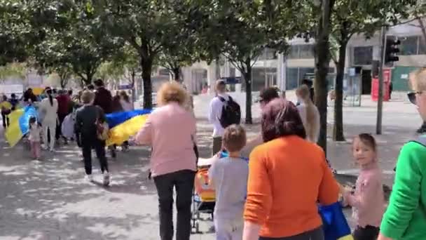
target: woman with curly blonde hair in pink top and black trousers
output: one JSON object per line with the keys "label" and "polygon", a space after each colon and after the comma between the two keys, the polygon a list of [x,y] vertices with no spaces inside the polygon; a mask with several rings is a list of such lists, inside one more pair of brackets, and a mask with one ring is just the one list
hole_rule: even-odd
{"label": "woman with curly blonde hair in pink top and black trousers", "polygon": [[173,239],[173,189],[176,188],[177,236],[189,240],[196,170],[195,118],[185,109],[188,93],[167,82],[157,93],[159,107],[149,115],[135,142],[152,146],[151,175],[158,192],[160,239]]}

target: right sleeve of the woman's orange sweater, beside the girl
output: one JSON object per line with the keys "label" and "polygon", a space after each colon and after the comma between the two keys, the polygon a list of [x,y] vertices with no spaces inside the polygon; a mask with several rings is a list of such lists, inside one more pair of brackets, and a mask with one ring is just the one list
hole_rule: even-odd
{"label": "right sleeve of the woman's orange sweater, beside the girl", "polygon": [[324,151],[321,150],[321,152],[323,175],[318,191],[318,201],[320,201],[321,204],[330,205],[338,201],[340,189],[336,179],[334,179],[333,173],[331,173],[331,169],[326,164]]}

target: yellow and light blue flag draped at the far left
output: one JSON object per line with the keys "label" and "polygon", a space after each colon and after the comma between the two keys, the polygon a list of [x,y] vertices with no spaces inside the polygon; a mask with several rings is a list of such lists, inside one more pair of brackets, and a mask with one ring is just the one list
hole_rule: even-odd
{"label": "yellow and light blue flag draped at the far left", "polygon": [[28,122],[32,116],[38,117],[37,110],[32,105],[17,109],[9,114],[11,125],[6,128],[4,136],[11,147],[14,147],[22,136],[28,133]]}

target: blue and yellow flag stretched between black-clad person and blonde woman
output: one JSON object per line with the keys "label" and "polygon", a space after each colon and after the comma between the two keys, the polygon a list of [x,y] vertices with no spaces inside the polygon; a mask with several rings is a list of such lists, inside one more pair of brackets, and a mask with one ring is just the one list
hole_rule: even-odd
{"label": "blue and yellow flag stretched between black-clad person and blonde woman", "polygon": [[129,140],[130,136],[136,135],[142,126],[144,126],[151,112],[151,109],[140,109],[130,112],[107,114],[107,123],[109,126],[107,146],[114,144],[122,145],[123,142]]}

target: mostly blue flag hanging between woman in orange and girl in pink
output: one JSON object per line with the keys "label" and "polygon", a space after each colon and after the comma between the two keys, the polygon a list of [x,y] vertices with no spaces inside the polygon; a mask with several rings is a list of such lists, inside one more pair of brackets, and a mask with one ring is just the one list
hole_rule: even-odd
{"label": "mostly blue flag hanging between woman in orange and girl in pink", "polygon": [[353,240],[340,202],[319,206],[325,240]]}

